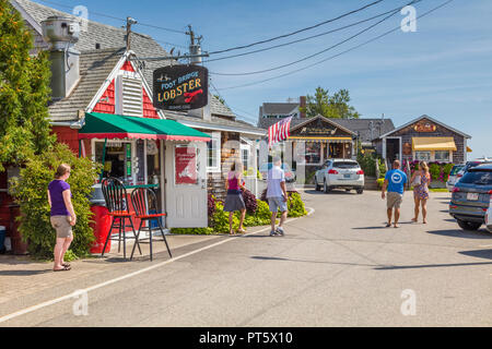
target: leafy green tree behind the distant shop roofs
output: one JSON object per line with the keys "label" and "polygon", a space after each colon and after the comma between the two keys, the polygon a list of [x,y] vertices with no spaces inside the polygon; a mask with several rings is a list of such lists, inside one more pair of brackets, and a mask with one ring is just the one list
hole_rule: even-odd
{"label": "leafy green tree behind the distant shop roofs", "polygon": [[320,115],[325,118],[359,119],[360,113],[349,105],[350,100],[348,89],[340,89],[330,96],[328,89],[319,86],[314,96],[306,96],[306,107],[301,108],[301,112],[305,112],[308,118]]}

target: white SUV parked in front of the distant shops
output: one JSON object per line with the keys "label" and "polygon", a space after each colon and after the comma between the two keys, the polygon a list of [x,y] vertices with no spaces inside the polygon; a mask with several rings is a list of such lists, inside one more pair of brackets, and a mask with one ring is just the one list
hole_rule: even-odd
{"label": "white SUV parked in front of the distant shops", "polygon": [[325,193],[332,189],[342,188],[347,191],[356,190],[358,194],[364,192],[364,171],[355,160],[331,159],[326,161],[321,169],[315,173],[316,190]]}

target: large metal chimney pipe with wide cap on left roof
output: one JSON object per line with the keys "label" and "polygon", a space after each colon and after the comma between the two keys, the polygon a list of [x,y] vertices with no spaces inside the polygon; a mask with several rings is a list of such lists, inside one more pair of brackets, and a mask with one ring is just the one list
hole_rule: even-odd
{"label": "large metal chimney pipe with wide cap on left roof", "polygon": [[80,24],[67,16],[50,16],[42,22],[43,37],[51,44],[51,97],[62,99],[70,95],[80,80],[80,52],[73,48],[79,41]]}

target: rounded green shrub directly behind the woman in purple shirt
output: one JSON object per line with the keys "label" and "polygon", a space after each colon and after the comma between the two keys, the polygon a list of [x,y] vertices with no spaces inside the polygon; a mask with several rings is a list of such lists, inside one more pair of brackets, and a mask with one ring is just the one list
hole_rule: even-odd
{"label": "rounded green shrub directly behind the woman in purple shirt", "polygon": [[98,166],[87,158],[78,158],[67,145],[56,144],[52,151],[31,157],[21,169],[20,178],[13,179],[12,193],[21,206],[20,231],[33,256],[51,258],[56,244],[56,232],[49,221],[48,184],[60,164],[71,166],[68,179],[72,192],[72,204],[77,215],[73,227],[73,242],[70,246],[75,256],[90,255],[91,242],[94,240],[89,226],[92,212],[89,196],[97,178]]}

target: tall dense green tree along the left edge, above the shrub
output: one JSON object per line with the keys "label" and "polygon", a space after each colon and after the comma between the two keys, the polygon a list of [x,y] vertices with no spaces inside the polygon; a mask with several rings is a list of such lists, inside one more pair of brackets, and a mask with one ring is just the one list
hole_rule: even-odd
{"label": "tall dense green tree along the left edge, above the shrub", "polygon": [[0,0],[0,171],[50,148],[47,53],[32,57],[33,36],[8,0]]}

